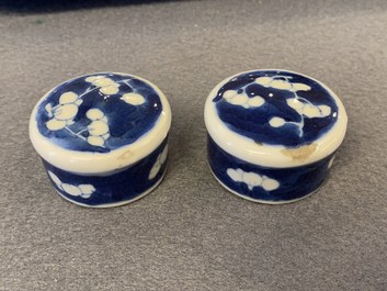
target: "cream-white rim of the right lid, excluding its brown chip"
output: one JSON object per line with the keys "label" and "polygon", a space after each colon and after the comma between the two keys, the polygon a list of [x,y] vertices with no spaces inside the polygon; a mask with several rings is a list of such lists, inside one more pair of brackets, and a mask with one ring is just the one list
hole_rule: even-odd
{"label": "cream-white rim of the right lid, excluding its brown chip", "polygon": [[[309,78],[322,86],[334,99],[338,105],[338,119],[334,125],[322,137],[316,139],[314,144],[317,145],[316,150],[311,153],[307,159],[293,159],[291,156],[286,156],[282,153],[286,149],[285,146],[281,145],[258,145],[253,139],[240,135],[236,132],[229,130],[226,124],[220,120],[217,114],[216,103],[213,99],[216,97],[218,90],[232,78],[248,72],[253,71],[284,71],[291,74],[297,74],[303,77]],[[330,154],[332,154],[341,145],[345,136],[348,116],[343,103],[337,97],[337,94],[329,89],[322,82],[299,72],[283,70],[283,69],[259,69],[259,70],[248,70],[243,72],[238,72],[231,77],[219,82],[209,93],[205,108],[204,108],[204,121],[209,136],[215,141],[215,143],[226,150],[228,154],[246,160],[251,164],[272,167],[272,168],[289,168],[308,165],[318,161]]]}

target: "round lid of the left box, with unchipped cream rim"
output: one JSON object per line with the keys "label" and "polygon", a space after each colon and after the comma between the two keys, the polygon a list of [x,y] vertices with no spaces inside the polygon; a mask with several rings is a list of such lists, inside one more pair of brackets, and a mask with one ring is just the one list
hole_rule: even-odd
{"label": "round lid of the left box, with unchipped cream rim", "polygon": [[132,75],[98,72],[47,92],[32,112],[30,138],[54,166],[98,174],[146,157],[170,125],[168,100],[155,85]]}

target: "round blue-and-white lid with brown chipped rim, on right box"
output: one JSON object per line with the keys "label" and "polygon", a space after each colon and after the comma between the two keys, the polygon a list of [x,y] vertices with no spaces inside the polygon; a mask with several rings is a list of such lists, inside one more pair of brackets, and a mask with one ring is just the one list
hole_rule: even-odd
{"label": "round blue-and-white lid with brown chipped rim, on right box", "polygon": [[287,70],[235,75],[209,93],[205,124],[227,153],[274,167],[307,165],[342,143],[346,113],[323,83]]}

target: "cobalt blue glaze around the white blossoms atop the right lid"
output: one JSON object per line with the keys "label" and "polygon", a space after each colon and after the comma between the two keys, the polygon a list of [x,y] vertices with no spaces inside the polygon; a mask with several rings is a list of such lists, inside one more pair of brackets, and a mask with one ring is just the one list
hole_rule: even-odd
{"label": "cobalt blue glaze around the white blossoms atop the right lid", "polygon": [[[260,77],[273,77],[275,80],[309,86],[309,90],[284,90],[255,82]],[[283,77],[281,77],[283,76]],[[244,92],[249,99],[259,96],[264,103],[260,107],[236,107],[225,101],[224,93],[235,90]],[[297,98],[303,103],[328,105],[331,111],[327,116],[304,119],[303,114],[291,108],[286,100]],[[335,123],[338,107],[331,93],[320,83],[305,76],[281,70],[258,70],[241,74],[226,82],[213,100],[216,102],[220,120],[232,132],[247,136],[254,142],[268,145],[299,147],[308,145],[327,133]],[[270,120],[281,116],[285,124],[280,127],[270,125]],[[301,128],[299,124],[303,124]]]}

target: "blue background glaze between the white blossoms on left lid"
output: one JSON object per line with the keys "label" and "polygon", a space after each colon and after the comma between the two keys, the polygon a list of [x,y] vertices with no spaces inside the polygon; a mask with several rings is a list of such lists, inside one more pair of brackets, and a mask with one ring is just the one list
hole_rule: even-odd
{"label": "blue background glaze between the white blossoms on left lid", "polygon": [[[111,81],[104,83],[107,86],[98,86],[95,81],[87,81],[87,77],[93,76],[104,77]],[[59,99],[66,92],[73,92],[77,101],[60,104]],[[145,102],[143,104],[125,102],[122,96],[129,92],[143,96]],[[78,107],[75,109],[76,115],[66,120],[68,124],[62,128],[52,131],[46,123],[55,119],[58,111],[59,113],[60,110],[64,111],[65,105],[73,109]],[[49,107],[48,110],[47,107]],[[87,116],[90,109],[100,110],[109,121],[110,136],[103,145],[88,143],[90,133],[86,128],[92,123],[92,120]],[[94,74],[64,82],[49,92],[37,109],[36,124],[43,136],[62,148],[109,153],[135,143],[153,127],[161,111],[162,104],[158,93],[145,81],[127,75]]]}

